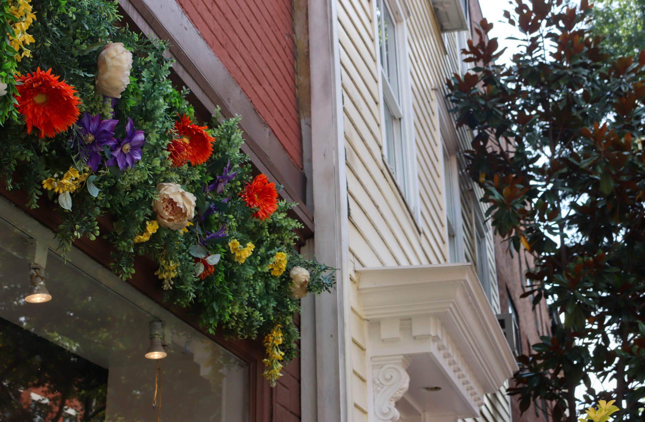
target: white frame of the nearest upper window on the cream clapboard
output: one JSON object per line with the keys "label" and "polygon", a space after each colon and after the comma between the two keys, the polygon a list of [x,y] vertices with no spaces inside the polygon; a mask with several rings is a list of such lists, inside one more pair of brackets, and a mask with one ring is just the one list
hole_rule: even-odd
{"label": "white frame of the nearest upper window on the cream clapboard", "polygon": [[[374,30],[375,30],[375,47],[377,52],[377,66],[378,66],[378,79],[379,79],[379,95],[381,98],[381,155],[383,166],[386,168],[387,173],[390,174],[397,189],[406,203],[408,209],[412,213],[415,221],[421,221],[421,207],[419,201],[419,177],[417,176],[417,158],[416,146],[414,139],[413,115],[412,115],[412,86],[410,80],[410,64],[408,61],[408,34],[406,28],[406,19],[410,12],[405,4],[405,0],[376,0],[373,2],[374,13]],[[397,76],[399,82],[399,99],[392,90],[390,82],[385,75],[382,66],[381,45],[379,39],[379,19],[377,18],[377,8],[386,8],[393,19],[394,28],[393,34],[395,36],[396,55],[395,61],[397,62]],[[401,160],[399,164],[395,165],[395,170],[390,168],[392,157],[388,157],[388,136],[386,133],[385,115],[386,106],[392,111],[392,116],[399,120],[400,137],[396,139],[397,134],[395,131],[395,141],[400,142]],[[401,167],[401,168],[399,168]]]}

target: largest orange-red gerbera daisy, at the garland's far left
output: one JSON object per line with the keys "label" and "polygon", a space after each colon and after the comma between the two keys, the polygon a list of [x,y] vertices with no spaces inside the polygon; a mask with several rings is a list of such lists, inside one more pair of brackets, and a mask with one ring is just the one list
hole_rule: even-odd
{"label": "largest orange-red gerbera daisy, at the garland's far left", "polygon": [[25,116],[27,133],[35,126],[39,137],[53,137],[68,129],[79,118],[80,100],[74,95],[74,86],[58,81],[60,76],[52,75],[52,69],[43,72],[38,68],[34,74],[16,77],[23,82],[16,85],[19,96],[18,111]]}

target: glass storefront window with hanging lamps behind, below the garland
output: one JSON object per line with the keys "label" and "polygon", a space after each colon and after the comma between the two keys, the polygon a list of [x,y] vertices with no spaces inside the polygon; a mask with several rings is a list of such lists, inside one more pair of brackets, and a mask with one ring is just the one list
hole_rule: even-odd
{"label": "glass storefront window with hanging lamps behind, below the garland", "polygon": [[155,421],[157,361],[144,354],[148,323],[163,320],[161,420],[248,421],[248,364],[134,289],[50,251],[53,298],[25,302],[31,242],[0,221],[0,420]]}

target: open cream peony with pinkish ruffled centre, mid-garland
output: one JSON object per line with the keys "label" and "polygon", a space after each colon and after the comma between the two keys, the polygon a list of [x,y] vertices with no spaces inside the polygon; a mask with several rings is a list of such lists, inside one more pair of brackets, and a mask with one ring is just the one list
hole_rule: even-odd
{"label": "open cream peony with pinkish ruffled centre, mid-garland", "polygon": [[186,227],[195,216],[195,195],[176,183],[158,184],[157,193],[159,198],[155,200],[152,211],[157,213],[159,225],[173,230]]}

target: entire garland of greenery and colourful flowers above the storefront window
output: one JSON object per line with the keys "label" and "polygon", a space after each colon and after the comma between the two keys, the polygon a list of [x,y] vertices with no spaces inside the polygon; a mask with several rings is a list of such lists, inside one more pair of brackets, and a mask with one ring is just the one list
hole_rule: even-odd
{"label": "entire garland of greenery and colourful flowers above the storefront window", "polygon": [[253,176],[239,120],[215,113],[199,126],[168,79],[165,45],[119,27],[115,1],[0,1],[15,17],[12,44],[0,43],[11,64],[11,79],[0,74],[6,188],[24,189],[31,207],[57,203],[63,251],[99,236],[108,213],[113,271],[125,279],[135,256],[154,258],[164,298],[208,331],[264,336],[275,385],[295,356],[299,298],[329,291],[333,269],[293,249],[294,204]]}

